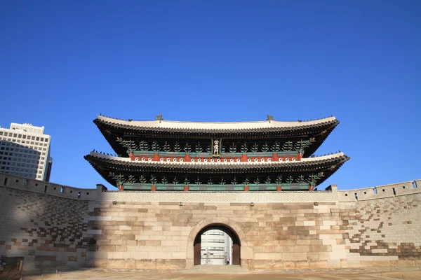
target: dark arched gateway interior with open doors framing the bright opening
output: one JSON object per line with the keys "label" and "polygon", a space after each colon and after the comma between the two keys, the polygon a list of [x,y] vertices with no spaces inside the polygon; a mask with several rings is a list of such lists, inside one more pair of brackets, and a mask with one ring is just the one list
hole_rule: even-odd
{"label": "dark arched gateway interior with open doors framing the bright opening", "polygon": [[[201,265],[203,261],[201,260],[201,235],[203,233],[208,232],[209,230],[220,230],[225,232],[231,239],[232,239],[232,259],[229,260],[230,264],[232,265],[241,265],[240,263],[240,250],[241,250],[241,242],[236,234],[236,232],[230,228],[228,225],[224,225],[222,223],[213,223],[210,225],[206,225],[206,227],[202,228],[194,237],[194,265]],[[231,257],[230,257],[231,258]]]}

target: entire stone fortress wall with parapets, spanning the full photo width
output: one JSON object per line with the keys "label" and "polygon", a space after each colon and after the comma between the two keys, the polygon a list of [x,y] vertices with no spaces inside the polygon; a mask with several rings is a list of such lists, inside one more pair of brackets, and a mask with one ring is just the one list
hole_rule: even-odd
{"label": "entire stone fortress wall with parapets, spanning the full photo width", "polygon": [[25,257],[26,270],[188,268],[196,235],[222,225],[250,269],[421,266],[418,187],[119,192],[0,174],[0,255]]}

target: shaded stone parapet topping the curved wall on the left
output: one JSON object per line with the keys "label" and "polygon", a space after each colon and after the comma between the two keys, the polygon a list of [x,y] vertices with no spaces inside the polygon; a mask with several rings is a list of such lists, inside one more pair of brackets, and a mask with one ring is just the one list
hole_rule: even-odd
{"label": "shaded stone parapet topping the curved wall on the left", "polygon": [[56,197],[69,198],[71,200],[92,201],[96,198],[96,190],[89,188],[74,188],[70,186],[26,179],[6,173],[0,173],[0,187],[13,188],[15,190],[26,190],[32,193],[43,193]]}

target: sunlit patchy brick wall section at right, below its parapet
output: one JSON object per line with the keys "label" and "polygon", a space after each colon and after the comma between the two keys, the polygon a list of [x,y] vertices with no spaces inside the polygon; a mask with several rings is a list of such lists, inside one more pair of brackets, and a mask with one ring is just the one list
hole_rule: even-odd
{"label": "sunlit patchy brick wall section at right, below its parapet", "polygon": [[373,266],[373,261],[421,266],[421,193],[342,202],[339,207],[348,266]]}

